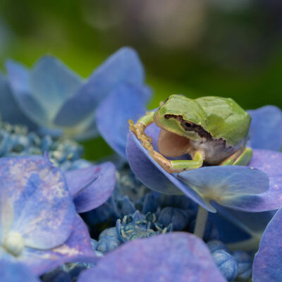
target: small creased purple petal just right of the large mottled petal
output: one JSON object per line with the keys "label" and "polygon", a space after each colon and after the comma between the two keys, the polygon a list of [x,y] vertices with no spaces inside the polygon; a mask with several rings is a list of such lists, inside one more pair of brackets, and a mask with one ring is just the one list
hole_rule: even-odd
{"label": "small creased purple petal just right of the large mottled petal", "polygon": [[77,212],[95,209],[111,196],[116,184],[116,168],[111,162],[66,172],[68,189]]}

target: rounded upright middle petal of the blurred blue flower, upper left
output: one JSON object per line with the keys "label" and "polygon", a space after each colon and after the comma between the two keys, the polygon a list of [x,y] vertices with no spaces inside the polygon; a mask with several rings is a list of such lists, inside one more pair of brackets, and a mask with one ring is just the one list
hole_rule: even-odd
{"label": "rounded upright middle petal of the blurred blue flower, upper left", "polygon": [[43,56],[30,72],[30,90],[49,120],[81,85],[81,78],[53,56]]}

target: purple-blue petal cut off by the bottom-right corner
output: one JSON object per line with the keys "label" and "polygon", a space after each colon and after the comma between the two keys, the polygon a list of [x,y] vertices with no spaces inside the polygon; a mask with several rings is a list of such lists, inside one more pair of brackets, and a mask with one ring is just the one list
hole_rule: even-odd
{"label": "purple-blue petal cut off by the bottom-right corner", "polygon": [[254,282],[282,281],[282,209],[266,227],[255,255],[252,270]]}

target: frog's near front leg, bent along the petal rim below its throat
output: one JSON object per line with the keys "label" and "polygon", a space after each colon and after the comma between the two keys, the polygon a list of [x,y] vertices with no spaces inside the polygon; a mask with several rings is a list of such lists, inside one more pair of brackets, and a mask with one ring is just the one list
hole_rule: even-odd
{"label": "frog's near front leg, bent along the petal rim below its throat", "polygon": [[189,169],[200,168],[204,161],[202,152],[197,151],[191,160],[169,160],[154,150],[149,151],[150,156],[168,173],[180,173]]}

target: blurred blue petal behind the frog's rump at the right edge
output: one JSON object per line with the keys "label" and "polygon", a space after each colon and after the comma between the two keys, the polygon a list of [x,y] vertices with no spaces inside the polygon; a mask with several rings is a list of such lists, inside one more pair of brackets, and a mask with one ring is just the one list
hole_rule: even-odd
{"label": "blurred blue petal behind the frog's rump at the right edge", "polygon": [[282,149],[282,111],[276,106],[263,106],[248,111],[252,116],[249,145],[255,149]]}

